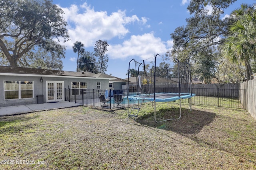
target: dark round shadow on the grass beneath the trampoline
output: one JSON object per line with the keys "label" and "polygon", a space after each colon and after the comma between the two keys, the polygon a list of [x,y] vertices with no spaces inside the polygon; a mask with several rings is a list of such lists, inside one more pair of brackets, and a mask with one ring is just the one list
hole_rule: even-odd
{"label": "dark round shadow on the grass beneath the trampoline", "polygon": [[[165,108],[159,109],[156,112],[157,121],[171,118],[178,118],[180,108]],[[169,120],[160,123],[154,121],[154,112],[144,114],[136,120],[137,123],[158,129],[173,131],[180,134],[195,134],[199,133],[202,128],[209,125],[216,117],[215,113],[210,113],[200,110],[192,110],[182,108],[180,119]]]}

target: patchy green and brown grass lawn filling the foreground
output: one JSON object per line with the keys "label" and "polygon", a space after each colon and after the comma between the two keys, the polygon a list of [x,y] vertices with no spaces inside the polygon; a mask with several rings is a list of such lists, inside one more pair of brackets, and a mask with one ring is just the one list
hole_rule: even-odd
{"label": "patchy green and brown grass lawn filling the foreground", "polygon": [[[179,116],[178,103],[157,110]],[[82,106],[0,117],[0,169],[256,169],[256,120],[242,109],[182,104],[181,119],[155,123],[147,103],[126,119]]]}

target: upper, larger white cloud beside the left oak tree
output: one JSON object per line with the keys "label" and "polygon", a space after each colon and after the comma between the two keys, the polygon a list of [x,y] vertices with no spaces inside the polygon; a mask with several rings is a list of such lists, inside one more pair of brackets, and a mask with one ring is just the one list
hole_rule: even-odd
{"label": "upper, larger white cloud beside the left oak tree", "polygon": [[94,8],[87,3],[81,6],[71,5],[62,10],[65,13],[64,18],[68,23],[67,28],[71,39],[65,43],[67,49],[72,49],[75,41],[81,41],[85,47],[92,47],[98,39],[110,40],[114,37],[121,39],[129,33],[126,25],[134,22],[146,25],[148,21],[145,17],[126,16],[126,12],[121,10],[112,12],[110,15],[106,11],[94,11]]}

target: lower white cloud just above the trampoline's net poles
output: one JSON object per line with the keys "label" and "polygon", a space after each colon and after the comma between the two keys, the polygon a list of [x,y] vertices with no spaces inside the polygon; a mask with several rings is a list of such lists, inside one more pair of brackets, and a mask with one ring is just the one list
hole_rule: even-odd
{"label": "lower white cloud just above the trampoline's net poles", "polygon": [[[171,43],[168,41],[168,45]],[[148,59],[154,55],[166,53],[166,45],[159,37],[154,37],[154,33],[144,33],[143,35],[132,35],[130,39],[122,44],[110,45],[108,56],[112,59],[124,59],[126,57],[139,57]]]}

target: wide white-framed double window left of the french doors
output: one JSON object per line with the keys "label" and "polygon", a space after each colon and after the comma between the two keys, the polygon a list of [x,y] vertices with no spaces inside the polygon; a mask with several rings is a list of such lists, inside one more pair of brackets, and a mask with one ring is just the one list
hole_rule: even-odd
{"label": "wide white-framed double window left of the french doors", "polygon": [[33,98],[33,94],[34,82],[4,81],[4,100]]}

